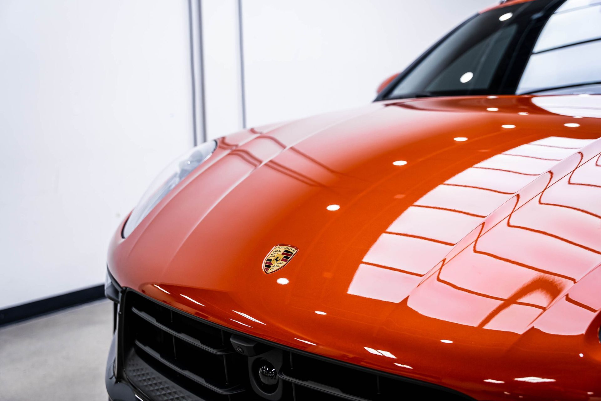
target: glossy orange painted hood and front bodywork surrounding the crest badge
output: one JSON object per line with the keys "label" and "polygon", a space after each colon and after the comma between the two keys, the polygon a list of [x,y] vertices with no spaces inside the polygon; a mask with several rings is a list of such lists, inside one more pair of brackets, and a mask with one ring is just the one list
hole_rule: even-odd
{"label": "glossy orange painted hood and front bodywork surrounding the crest badge", "polygon": [[[441,97],[235,133],[118,229],[109,269],[219,325],[476,399],[599,400],[600,117],[601,96]],[[278,243],[299,251],[267,275]]]}

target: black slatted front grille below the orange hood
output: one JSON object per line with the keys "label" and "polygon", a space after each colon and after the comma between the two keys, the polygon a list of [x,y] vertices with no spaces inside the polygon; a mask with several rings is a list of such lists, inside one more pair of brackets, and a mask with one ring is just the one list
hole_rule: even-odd
{"label": "black slatted front grille below the orange hood", "polygon": [[[257,340],[132,290],[121,300],[120,373],[151,401],[469,399],[425,382]],[[232,341],[240,339],[256,344],[256,352],[236,352]],[[259,380],[265,361],[278,370],[278,384]]]}

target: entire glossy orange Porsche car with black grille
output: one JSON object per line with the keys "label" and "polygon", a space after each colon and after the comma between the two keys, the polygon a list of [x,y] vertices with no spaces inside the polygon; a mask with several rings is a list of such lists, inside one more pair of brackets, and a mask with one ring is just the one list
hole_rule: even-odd
{"label": "entire glossy orange Porsche car with black grille", "polygon": [[506,1],[193,148],[111,241],[109,399],[601,400],[600,94],[601,2]]}

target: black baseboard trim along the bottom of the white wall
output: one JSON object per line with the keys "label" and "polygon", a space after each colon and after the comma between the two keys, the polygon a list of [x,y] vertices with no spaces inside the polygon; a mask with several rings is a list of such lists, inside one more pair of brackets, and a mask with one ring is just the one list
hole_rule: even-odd
{"label": "black baseboard trim along the bottom of the white wall", "polygon": [[63,295],[51,296],[28,304],[0,310],[0,327],[10,323],[21,322],[32,317],[56,312],[76,305],[87,304],[91,301],[104,298],[105,286],[100,284],[83,290],[69,292]]}

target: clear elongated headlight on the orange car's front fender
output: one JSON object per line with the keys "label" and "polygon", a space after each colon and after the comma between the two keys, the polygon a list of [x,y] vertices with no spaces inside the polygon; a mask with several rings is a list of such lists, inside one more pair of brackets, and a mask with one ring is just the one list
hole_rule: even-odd
{"label": "clear elongated headlight on the orange car's front fender", "polygon": [[123,227],[123,237],[129,236],[132,231],[138,227],[138,224],[150,213],[150,210],[156,206],[166,194],[171,191],[185,179],[192,170],[197,168],[202,162],[206,161],[210,155],[215,152],[217,141],[204,142],[192,148],[180,158],[175,159],[168,167],[163,170],[159,176],[150,184],[144,196],[139,201],[132,214],[127,219]]}

